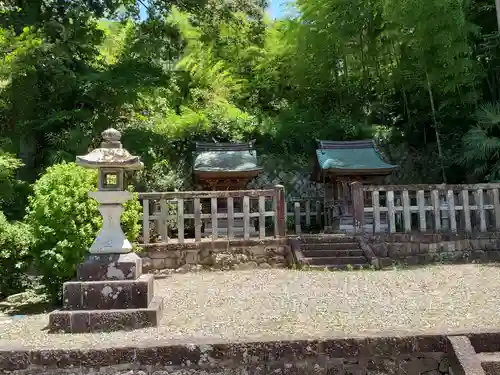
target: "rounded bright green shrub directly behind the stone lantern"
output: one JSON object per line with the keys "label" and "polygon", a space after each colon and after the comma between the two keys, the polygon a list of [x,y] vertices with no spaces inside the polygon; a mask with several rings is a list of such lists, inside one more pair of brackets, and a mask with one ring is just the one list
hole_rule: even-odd
{"label": "rounded bright green shrub directly behind the stone lantern", "polygon": [[[62,283],[75,276],[102,225],[98,204],[88,197],[96,190],[97,172],[63,163],[49,167],[33,186],[26,222],[33,228],[33,258],[46,292],[60,298]],[[139,235],[141,205],[125,204],[122,228],[130,241]]]}

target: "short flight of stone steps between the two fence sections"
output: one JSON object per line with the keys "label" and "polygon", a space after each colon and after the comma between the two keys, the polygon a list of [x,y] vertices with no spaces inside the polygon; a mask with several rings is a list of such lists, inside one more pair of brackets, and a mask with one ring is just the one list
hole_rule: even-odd
{"label": "short flight of stone steps between the two fence sections", "polygon": [[356,237],[346,234],[311,235],[292,239],[296,261],[301,266],[330,270],[370,268],[370,260]]}

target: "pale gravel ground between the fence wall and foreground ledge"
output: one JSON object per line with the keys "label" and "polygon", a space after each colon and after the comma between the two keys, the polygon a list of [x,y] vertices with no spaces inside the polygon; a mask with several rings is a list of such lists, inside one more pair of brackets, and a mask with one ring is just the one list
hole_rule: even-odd
{"label": "pale gravel ground between the fence wall and foreground ledge", "polygon": [[234,271],[156,281],[160,327],[103,334],[47,334],[47,314],[0,325],[0,347],[89,348],[154,340],[258,340],[500,327],[500,267],[411,270]]}

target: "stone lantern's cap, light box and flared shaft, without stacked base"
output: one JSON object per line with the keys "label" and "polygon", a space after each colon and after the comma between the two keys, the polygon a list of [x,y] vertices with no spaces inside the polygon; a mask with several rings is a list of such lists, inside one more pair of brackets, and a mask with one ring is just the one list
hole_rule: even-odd
{"label": "stone lantern's cap, light box and flared shaft, without stacked base", "polygon": [[107,129],[102,133],[102,137],[100,148],[76,158],[78,165],[98,171],[98,190],[89,192],[89,196],[99,203],[103,225],[89,252],[128,253],[132,251],[132,245],[125,237],[120,224],[123,204],[132,198],[132,194],[126,191],[126,175],[141,169],[143,165],[138,156],[131,155],[122,147],[118,130]]}

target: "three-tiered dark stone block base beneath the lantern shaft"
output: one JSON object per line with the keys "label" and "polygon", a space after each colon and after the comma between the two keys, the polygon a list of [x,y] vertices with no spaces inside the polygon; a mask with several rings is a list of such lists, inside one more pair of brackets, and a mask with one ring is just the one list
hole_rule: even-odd
{"label": "three-tiered dark stone block base beneath the lantern shaft", "polygon": [[163,298],[154,297],[154,278],[142,274],[135,253],[89,255],[77,281],[64,283],[63,308],[49,316],[49,332],[89,333],[158,325]]}

